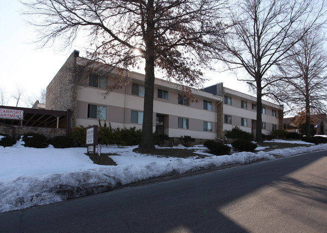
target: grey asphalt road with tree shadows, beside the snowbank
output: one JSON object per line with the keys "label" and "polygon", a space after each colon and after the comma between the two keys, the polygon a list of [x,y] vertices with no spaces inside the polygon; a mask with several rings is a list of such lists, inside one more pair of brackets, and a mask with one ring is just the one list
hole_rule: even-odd
{"label": "grey asphalt road with tree shadows, beside the snowbank", "polygon": [[327,151],[2,213],[0,232],[327,232]]}

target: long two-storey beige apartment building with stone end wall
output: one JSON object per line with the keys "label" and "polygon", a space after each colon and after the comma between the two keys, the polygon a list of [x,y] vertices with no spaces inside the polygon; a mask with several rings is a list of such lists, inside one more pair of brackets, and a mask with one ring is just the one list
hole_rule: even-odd
{"label": "long two-storey beige apartment building with stone end wall", "polygon": [[[144,75],[127,71],[132,84],[114,89],[104,98],[102,94],[118,77],[114,72],[102,72],[104,64],[97,63],[97,68],[94,68],[94,64],[92,69],[85,68],[88,61],[79,57],[78,51],[69,56],[47,87],[46,109],[71,109],[72,127],[98,125],[100,119],[101,122],[110,122],[113,128],[141,129]],[[214,88],[220,88],[221,92],[211,91]],[[254,130],[256,112],[251,104],[255,103],[255,97],[224,88],[222,83],[218,83],[204,91],[192,89],[197,100],[192,102],[183,96],[181,89],[181,85],[176,83],[155,79],[153,132],[169,137],[187,135],[198,139],[215,139],[222,138],[224,131],[234,126],[248,132]],[[244,108],[244,104],[247,107]],[[274,128],[282,126],[282,107],[266,101],[264,106],[263,133],[269,134]]]}

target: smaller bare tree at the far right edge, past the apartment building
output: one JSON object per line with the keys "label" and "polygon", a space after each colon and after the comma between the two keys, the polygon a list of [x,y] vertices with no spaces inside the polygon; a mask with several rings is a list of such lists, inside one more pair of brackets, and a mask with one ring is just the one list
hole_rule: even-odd
{"label": "smaller bare tree at the far right edge, past the apartment building", "polygon": [[327,51],[325,37],[319,30],[305,35],[287,52],[288,59],[279,67],[283,81],[272,86],[275,97],[292,112],[305,112],[305,134],[310,137],[310,116],[326,113]]}

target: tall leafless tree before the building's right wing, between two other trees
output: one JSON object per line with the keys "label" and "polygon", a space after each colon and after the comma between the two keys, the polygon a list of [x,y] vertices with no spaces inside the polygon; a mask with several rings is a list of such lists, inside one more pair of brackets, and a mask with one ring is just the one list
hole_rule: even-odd
{"label": "tall leafless tree before the building's right wing, between two other trees", "polygon": [[[262,97],[265,88],[278,81],[271,76],[276,65],[303,36],[313,31],[324,14],[315,0],[239,0],[230,8],[229,32],[218,38],[224,48],[218,53],[229,69],[242,68],[247,82],[257,94],[256,141],[262,141]],[[321,22],[320,22],[321,23]]]}

